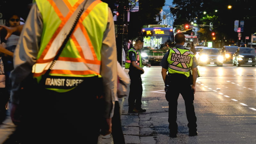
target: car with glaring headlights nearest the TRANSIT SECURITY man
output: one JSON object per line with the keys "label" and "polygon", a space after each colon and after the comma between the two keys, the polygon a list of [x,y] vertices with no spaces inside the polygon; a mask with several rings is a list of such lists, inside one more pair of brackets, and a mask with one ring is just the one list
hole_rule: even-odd
{"label": "car with glaring headlights nearest the TRANSIT SECURITY man", "polygon": [[222,67],[224,58],[217,48],[203,48],[197,60],[200,66],[217,65]]}

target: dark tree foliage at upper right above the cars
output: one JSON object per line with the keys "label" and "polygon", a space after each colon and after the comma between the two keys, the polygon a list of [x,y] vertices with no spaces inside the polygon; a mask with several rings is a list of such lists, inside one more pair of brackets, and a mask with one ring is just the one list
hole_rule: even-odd
{"label": "dark tree foliage at upper right above the cars", "polygon": [[[178,7],[172,12],[176,16],[174,25],[190,23],[193,20],[199,25],[210,25],[212,22],[216,40],[225,38],[230,43],[237,41],[237,32],[234,31],[235,20],[244,20],[243,40],[245,36],[251,36],[256,32],[254,0],[173,0],[173,4]],[[228,5],[232,8],[228,9]],[[203,14],[204,11],[206,14]],[[209,27],[199,28],[200,31],[204,31],[199,34],[203,40],[211,39]]]}

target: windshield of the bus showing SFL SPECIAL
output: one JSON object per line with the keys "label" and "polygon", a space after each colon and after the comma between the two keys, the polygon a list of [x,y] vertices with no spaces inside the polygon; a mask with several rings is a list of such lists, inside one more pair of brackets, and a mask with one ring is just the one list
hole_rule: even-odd
{"label": "windshield of the bus showing SFL SPECIAL", "polygon": [[171,36],[144,36],[144,49],[169,49],[174,41]]}

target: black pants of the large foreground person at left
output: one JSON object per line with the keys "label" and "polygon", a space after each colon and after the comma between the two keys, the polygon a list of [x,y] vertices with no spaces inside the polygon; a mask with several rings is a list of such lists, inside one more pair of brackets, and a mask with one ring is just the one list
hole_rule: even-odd
{"label": "black pants of the large foreground person at left", "polygon": [[97,99],[101,84],[96,76],[69,92],[28,89],[20,101],[22,120],[17,131],[21,143],[97,144],[105,110],[102,99]]}

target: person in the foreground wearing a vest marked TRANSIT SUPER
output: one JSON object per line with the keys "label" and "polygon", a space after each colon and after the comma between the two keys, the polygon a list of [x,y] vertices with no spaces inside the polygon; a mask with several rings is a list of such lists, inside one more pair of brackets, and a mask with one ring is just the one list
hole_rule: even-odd
{"label": "person in the foreground wearing a vest marked TRANSIT SUPER", "polygon": [[[31,72],[37,82],[41,80],[83,7],[72,35],[42,83],[44,87],[25,81]],[[108,4],[100,0],[36,0],[13,61],[11,117],[21,130],[22,142],[97,144],[102,125],[104,132],[111,132],[117,56]]]}

